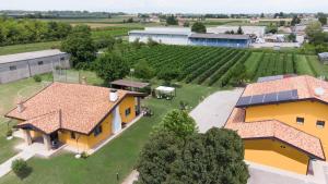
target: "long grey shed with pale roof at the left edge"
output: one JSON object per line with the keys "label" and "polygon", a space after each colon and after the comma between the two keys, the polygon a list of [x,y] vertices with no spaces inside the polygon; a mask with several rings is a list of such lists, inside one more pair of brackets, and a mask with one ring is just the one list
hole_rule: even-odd
{"label": "long grey shed with pale roof at the left edge", "polygon": [[69,68],[69,54],[55,49],[0,56],[0,84],[48,73],[57,65]]}

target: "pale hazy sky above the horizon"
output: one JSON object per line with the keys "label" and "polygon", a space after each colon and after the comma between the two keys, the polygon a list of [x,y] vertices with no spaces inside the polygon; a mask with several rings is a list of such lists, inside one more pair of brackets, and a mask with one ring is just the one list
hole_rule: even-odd
{"label": "pale hazy sky above the horizon", "polygon": [[328,0],[0,0],[0,10],[87,10],[127,13],[316,13]]}

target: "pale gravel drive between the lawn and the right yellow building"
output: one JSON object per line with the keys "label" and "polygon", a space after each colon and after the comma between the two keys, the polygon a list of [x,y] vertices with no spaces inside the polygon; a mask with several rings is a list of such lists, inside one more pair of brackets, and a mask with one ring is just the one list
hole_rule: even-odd
{"label": "pale gravel drive between the lawn and the right yellow building", "polygon": [[216,91],[199,103],[190,112],[199,131],[204,133],[213,126],[222,127],[243,90],[243,88],[236,88],[234,90]]}

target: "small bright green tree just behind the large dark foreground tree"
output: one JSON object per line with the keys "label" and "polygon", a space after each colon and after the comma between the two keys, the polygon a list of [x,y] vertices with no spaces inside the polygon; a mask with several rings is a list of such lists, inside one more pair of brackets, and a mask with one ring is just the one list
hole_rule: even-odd
{"label": "small bright green tree just behind the large dark foreground tree", "polygon": [[168,112],[160,124],[161,130],[173,132],[177,137],[185,138],[197,132],[195,120],[186,111]]}

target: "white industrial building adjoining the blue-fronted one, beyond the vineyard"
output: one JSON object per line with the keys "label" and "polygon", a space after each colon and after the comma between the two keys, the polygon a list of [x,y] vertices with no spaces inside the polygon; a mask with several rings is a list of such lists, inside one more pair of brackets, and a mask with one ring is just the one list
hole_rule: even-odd
{"label": "white industrial building adjoining the blue-fronted one, beyond the vineyard", "polygon": [[136,39],[147,42],[149,38],[166,45],[188,45],[188,36],[191,35],[190,28],[180,27],[145,27],[144,30],[129,32],[129,41]]}

